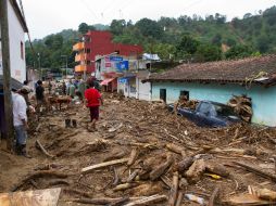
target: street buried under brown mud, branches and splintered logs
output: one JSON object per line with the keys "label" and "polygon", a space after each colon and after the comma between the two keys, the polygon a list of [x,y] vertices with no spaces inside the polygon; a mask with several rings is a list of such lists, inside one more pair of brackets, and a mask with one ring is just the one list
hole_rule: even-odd
{"label": "street buried under brown mud, branches and splintered logs", "polygon": [[[65,118],[76,119],[77,128],[65,128]],[[51,111],[33,123],[28,139],[33,158],[0,152],[0,192],[62,188],[59,205],[93,198],[112,198],[113,203],[122,197],[127,203],[159,194],[165,199],[151,205],[168,205],[176,173],[180,191],[200,196],[205,203],[217,186],[223,203],[230,195],[247,192],[248,185],[276,190],[272,179],[234,163],[275,173],[275,142],[271,138],[276,136],[275,129],[247,125],[199,128],[170,114],[161,103],[121,100],[106,93],[98,130],[89,131],[88,121],[89,113],[81,106],[63,105],[62,111]],[[192,162],[184,168],[181,160],[187,157]],[[116,159],[123,159],[122,164],[81,171]],[[183,205],[191,202],[184,201]]]}

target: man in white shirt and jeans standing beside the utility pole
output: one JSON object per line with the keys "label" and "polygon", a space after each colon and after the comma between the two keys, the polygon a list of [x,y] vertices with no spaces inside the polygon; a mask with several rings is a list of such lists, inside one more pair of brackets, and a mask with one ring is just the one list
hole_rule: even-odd
{"label": "man in white shirt and jeans standing beside the utility pole", "polygon": [[27,104],[22,94],[22,91],[12,92],[13,101],[13,126],[16,139],[16,153],[25,157],[29,157],[26,152],[27,141]]}

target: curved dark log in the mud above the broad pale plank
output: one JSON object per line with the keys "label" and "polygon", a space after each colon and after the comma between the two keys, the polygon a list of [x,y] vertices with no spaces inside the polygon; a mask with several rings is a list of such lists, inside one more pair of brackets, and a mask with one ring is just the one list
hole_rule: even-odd
{"label": "curved dark log in the mud above the broad pale plank", "polygon": [[18,190],[20,188],[22,188],[25,183],[27,183],[30,180],[34,180],[36,178],[40,178],[40,177],[54,177],[54,178],[61,178],[61,179],[65,179],[68,177],[68,175],[66,173],[62,173],[59,171],[53,171],[53,170],[48,170],[48,171],[36,171],[35,173],[32,173],[30,176],[24,178],[23,180],[21,180],[21,182],[16,185],[14,185],[11,191],[15,192],[16,190]]}

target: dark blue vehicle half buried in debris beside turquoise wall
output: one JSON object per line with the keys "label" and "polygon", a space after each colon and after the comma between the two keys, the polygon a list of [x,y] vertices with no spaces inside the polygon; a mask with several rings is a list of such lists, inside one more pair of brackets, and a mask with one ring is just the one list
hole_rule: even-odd
{"label": "dark blue vehicle half buried in debris beside turquoise wall", "polygon": [[[168,110],[174,111],[174,104],[168,104]],[[196,110],[178,108],[177,114],[196,123],[200,127],[225,127],[241,121],[234,113],[233,107],[212,101],[201,101]]]}

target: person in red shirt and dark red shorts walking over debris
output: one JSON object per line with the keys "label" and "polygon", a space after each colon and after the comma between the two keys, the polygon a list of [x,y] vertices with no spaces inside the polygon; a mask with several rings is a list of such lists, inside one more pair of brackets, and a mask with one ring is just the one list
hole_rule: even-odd
{"label": "person in red shirt and dark red shorts walking over debris", "polygon": [[99,119],[100,101],[103,105],[101,93],[95,89],[93,81],[90,81],[89,89],[85,91],[85,105],[90,110],[92,129],[96,129],[96,121]]}

